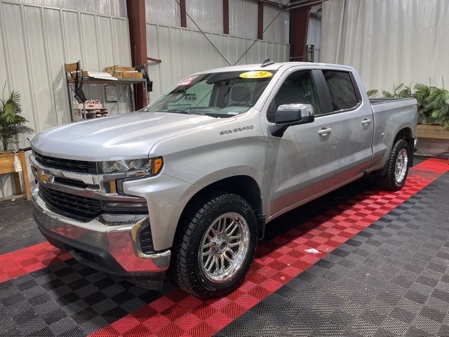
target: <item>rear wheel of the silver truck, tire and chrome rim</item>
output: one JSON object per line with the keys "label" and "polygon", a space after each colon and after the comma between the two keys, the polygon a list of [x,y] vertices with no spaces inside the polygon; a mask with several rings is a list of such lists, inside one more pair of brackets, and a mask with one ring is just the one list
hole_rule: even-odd
{"label": "rear wheel of the silver truck, tire and chrome rim", "polygon": [[409,163],[409,147],[406,140],[400,139],[394,143],[391,149],[383,175],[376,176],[379,187],[388,191],[401,190],[406,183]]}

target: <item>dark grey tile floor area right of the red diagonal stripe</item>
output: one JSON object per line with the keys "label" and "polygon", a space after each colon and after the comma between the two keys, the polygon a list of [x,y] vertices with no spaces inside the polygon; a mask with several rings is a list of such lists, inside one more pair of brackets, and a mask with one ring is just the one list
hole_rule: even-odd
{"label": "dark grey tile floor area right of the red diagonal stripe", "polygon": [[[448,200],[446,173],[295,278],[309,286],[276,291],[298,286],[286,308],[307,310],[296,310],[295,324],[272,321],[272,336],[449,336]],[[239,336],[245,316],[217,336]]]}

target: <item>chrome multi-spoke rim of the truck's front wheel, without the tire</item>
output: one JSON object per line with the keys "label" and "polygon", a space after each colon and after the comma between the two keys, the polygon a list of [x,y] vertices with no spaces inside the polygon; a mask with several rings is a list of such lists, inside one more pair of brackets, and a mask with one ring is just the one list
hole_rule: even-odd
{"label": "chrome multi-spoke rim of the truck's front wheel, without the tire", "polygon": [[204,276],[214,283],[232,279],[248,253],[250,230],[239,213],[222,214],[201,240],[199,262]]}

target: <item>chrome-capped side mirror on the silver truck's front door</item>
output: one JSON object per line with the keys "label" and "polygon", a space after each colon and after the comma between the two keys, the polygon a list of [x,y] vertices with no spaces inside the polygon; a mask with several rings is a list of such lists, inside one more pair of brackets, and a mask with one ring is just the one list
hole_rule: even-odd
{"label": "chrome-capped side mirror on the silver truck's front door", "polygon": [[269,126],[275,137],[282,137],[288,126],[311,123],[315,120],[314,107],[310,104],[279,105],[276,124]]}

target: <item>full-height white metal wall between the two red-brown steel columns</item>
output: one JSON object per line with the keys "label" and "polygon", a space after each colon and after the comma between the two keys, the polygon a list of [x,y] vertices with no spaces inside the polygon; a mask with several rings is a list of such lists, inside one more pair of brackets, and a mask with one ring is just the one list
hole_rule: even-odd
{"label": "full-height white metal wall between the two red-brown steel columns", "polygon": [[[180,8],[175,0],[147,0],[147,55],[162,60],[149,63],[154,82],[150,99],[157,98],[177,81],[194,72],[225,67],[227,62],[215,51],[187,16],[187,27],[180,27]],[[234,65],[257,39],[257,2],[229,1],[229,35],[223,31],[222,0],[186,0],[186,12],[220,53]],[[279,7],[264,4],[264,27],[279,13]],[[285,62],[288,44],[289,13],[284,11],[257,41],[239,64],[262,63],[264,58]]]}

